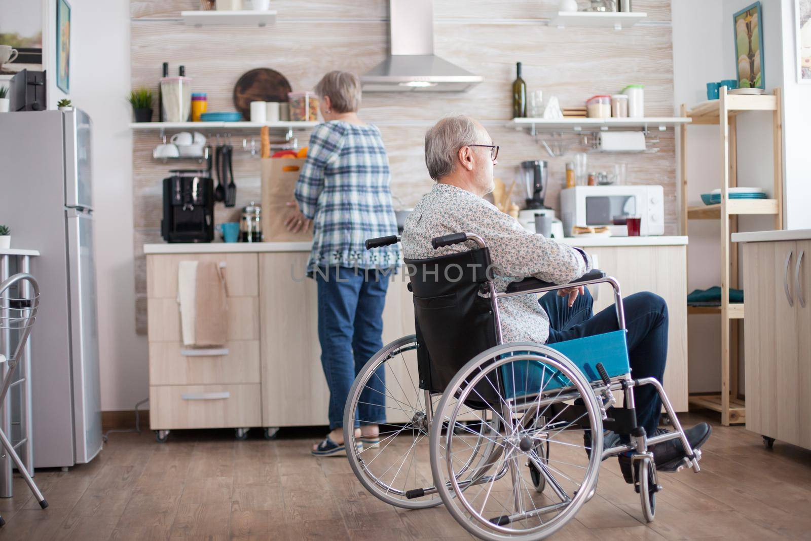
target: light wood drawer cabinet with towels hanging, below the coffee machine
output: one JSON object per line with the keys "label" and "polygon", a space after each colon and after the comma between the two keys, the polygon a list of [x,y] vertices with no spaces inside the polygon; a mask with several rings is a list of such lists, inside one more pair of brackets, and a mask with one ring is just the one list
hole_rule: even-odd
{"label": "light wood drawer cabinet with towels hanging, below the coffee machine", "polygon": [[[225,264],[228,342],[221,348],[182,344],[178,264],[191,260]],[[261,426],[258,260],[251,253],[147,255],[152,430]]]}

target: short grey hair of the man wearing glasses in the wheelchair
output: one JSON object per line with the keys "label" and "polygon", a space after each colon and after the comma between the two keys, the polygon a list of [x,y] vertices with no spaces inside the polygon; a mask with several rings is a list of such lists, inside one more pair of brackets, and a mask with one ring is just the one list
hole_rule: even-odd
{"label": "short grey hair of the man wearing glasses in the wheelchair", "polygon": [[475,144],[478,135],[474,119],[465,114],[440,118],[425,132],[425,165],[431,178],[439,181],[451,174],[459,149]]}

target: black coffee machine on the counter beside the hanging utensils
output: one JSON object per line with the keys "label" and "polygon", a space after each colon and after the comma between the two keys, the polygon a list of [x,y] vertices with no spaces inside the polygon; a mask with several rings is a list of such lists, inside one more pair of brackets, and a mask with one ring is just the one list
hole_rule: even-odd
{"label": "black coffee machine on the counter beside the hanging utensils", "polygon": [[167,243],[214,240],[214,181],[205,171],[173,170],[163,179],[161,234]]}

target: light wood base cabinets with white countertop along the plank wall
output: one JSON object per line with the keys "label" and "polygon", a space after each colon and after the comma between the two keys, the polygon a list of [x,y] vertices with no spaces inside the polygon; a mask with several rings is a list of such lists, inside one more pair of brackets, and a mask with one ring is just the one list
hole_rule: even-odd
{"label": "light wood base cabinets with white countertop along the plank wall", "polygon": [[[665,389],[687,410],[687,237],[564,238],[596,256],[623,295],[650,290],[670,313]],[[305,268],[310,243],[146,244],[149,395],[152,430],[327,424],[328,389],[320,363],[315,281]],[[228,344],[189,354],[176,301],[183,260],[225,264]],[[414,333],[414,310],[399,273],[388,288],[383,341]],[[592,289],[595,310],[613,303],[611,288]],[[189,399],[193,397],[194,399]]]}

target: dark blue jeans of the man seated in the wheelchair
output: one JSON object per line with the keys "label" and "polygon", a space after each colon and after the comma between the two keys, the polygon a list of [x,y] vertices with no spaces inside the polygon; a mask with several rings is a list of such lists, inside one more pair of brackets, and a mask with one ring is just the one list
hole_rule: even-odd
{"label": "dark blue jeans of the man seated in the wheelchair", "polygon": [[[610,333],[619,329],[616,310],[611,304],[593,315],[594,299],[589,290],[579,295],[573,306],[568,298],[550,291],[539,298],[540,305],[549,316],[547,344]],[[628,356],[634,378],[654,377],[663,383],[667,361],[667,304],[657,294],[643,291],[623,299],[625,328],[628,329]],[[633,388],[633,401],[637,408],[637,423],[648,435],[659,426],[662,404],[659,393],[652,385]]]}

